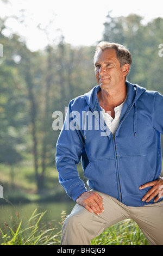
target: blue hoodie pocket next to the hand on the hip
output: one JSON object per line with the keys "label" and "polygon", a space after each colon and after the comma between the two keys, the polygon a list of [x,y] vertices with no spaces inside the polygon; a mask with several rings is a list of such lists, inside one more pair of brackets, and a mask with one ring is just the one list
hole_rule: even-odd
{"label": "blue hoodie pocket next to the hand on the hip", "polygon": [[154,171],[145,155],[119,158],[120,184],[123,197],[144,195],[151,187],[140,190],[139,187],[154,179]]}

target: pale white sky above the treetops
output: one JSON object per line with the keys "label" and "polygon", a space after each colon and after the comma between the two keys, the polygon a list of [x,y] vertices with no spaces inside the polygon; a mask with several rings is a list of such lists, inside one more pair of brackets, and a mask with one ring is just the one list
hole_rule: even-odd
{"label": "pale white sky above the treetops", "polygon": [[[64,40],[73,46],[96,45],[102,39],[103,23],[111,11],[112,17],[138,14],[145,22],[163,17],[163,1],[155,0],[0,0],[0,17],[10,17],[5,35],[18,33],[28,48],[35,51],[48,42]],[[18,20],[14,17],[18,17]],[[1,43],[1,42],[0,42]]]}

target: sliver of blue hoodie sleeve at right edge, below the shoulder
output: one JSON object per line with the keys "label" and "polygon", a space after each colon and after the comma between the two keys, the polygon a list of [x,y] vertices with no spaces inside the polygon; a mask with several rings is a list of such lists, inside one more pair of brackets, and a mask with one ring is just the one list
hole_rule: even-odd
{"label": "sliver of blue hoodie sleeve at right edge, below the shoulder", "polygon": [[153,127],[163,134],[163,96],[160,93],[155,94],[153,107]]}

